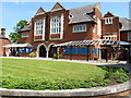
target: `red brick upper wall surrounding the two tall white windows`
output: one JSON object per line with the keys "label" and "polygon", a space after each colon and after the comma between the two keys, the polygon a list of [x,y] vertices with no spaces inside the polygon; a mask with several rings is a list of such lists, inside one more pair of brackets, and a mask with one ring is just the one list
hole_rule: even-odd
{"label": "red brick upper wall surrounding the two tall white windows", "polygon": [[[61,40],[50,40],[50,15],[58,15],[58,14],[63,14],[63,38]],[[45,40],[44,41],[34,41],[34,21],[38,19],[46,19],[46,27],[45,27]],[[93,38],[93,23],[84,23],[86,24],[87,32],[83,33],[72,33],[72,26],[69,25],[69,11],[67,10],[61,10],[61,11],[56,11],[56,12],[47,12],[44,15],[37,15],[32,19],[32,27],[28,33],[27,38],[22,38],[20,33],[20,42],[28,42],[35,46],[35,49],[39,44],[44,44],[46,47],[48,47],[50,44],[60,44],[64,41],[70,41],[70,40],[88,40]],[[58,38],[59,35],[51,35],[53,38]]]}

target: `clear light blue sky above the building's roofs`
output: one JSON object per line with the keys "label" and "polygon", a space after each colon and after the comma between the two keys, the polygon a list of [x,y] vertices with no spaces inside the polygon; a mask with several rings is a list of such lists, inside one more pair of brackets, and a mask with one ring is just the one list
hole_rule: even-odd
{"label": "clear light blue sky above the building's roofs", "polygon": [[[13,27],[20,20],[28,21],[32,19],[39,7],[44,10],[50,11],[56,2],[0,2],[0,28],[7,29],[5,37],[13,30]],[[60,2],[67,10],[79,8],[97,2]],[[106,14],[108,11],[119,17],[129,19],[129,2],[100,2],[102,13]],[[2,23],[2,24],[1,24]]]}

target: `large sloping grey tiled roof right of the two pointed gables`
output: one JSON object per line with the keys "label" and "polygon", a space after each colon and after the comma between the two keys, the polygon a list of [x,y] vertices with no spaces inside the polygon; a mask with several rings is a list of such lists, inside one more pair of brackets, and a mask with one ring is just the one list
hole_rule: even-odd
{"label": "large sloping grey tiled roof right of the two pointed gables", "polygon": [[69,24],[93,22],[94,20],[90,15],[87,15],[87,13],[94,12],[94,8],[99,8],[99,7],[100,7],[99,3],[95,3],[95,4],[71,9],[70,14],[72,15],[72,17],[70,19]]}

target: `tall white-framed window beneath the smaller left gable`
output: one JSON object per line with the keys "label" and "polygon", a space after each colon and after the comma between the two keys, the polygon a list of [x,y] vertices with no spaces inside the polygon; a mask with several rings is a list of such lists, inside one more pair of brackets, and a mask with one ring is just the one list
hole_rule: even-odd
{"label": "tall white-framed window beneath the smaller left gable", "polygon": [[[38,29],[36,29],[36,23],[38,24],[40,22],[43,22],[43,25],[38,25],[39,27],[37,26]],[[40,28],[40,26],[43,26],[43,27]],[[41,33],[36,34],[37,30],[38,32],[41,30]],[[45,34],[45,19],[44,20],[37,20],[37,21],[35,21],[34,32],[35,32],[35,36],[43,36]]]}

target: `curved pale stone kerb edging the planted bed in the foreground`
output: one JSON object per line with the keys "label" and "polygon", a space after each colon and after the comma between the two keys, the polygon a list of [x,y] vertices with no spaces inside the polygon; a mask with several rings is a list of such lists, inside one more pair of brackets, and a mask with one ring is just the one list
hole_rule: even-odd
{"label": "curved pale stone kerb edging the planted bed in the foreground", "polygon": [[21,97],[78,97],[78,96],[103,96],[131,90],[131,79],[123,84],[107,87],[79,88],[66,90],[28,90],[28,89],[7,89],[0,88],[0,96],[21,96]]}

